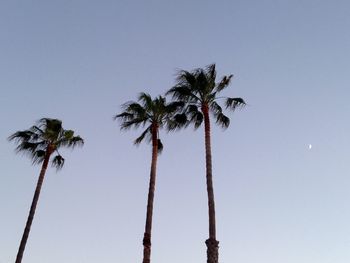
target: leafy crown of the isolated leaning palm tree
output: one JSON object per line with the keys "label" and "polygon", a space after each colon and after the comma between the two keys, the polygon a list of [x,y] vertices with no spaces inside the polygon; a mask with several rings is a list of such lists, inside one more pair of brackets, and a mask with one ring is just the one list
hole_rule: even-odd
{"label": "leafy crown of the isolated leaning palm tree", "polygon": [[75,147],[84,144],[80,136],[74,136],[74,131],[63,129],[62,121],[50,118],[42,118],[37,125],[28,130],[15,132],[8,139],[14,140],[18,144],[16,151],[27,154],[33,164],[42,163],[46,153],[51,155],[56,152],[51,163],[57,169],[62,168],[64,164],[64,158],[58,152],[60,147]]}

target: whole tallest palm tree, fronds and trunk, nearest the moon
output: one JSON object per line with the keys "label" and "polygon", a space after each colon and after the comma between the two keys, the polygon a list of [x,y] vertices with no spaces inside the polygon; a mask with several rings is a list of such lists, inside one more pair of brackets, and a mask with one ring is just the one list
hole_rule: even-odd
{"label": "whole tallest palm tree, fronds and trunk, nearest the moon", "polygon": [[182,70],[177,75],[176,85],[167,92],[167,95],[171,95],[173,99],[186,103],[185,111],[188,121],[194,124],[195,129],[199,128],[204,121],[206,183],[209,208],[209,239],[205,241],[207,245],[207,263],[218,263],[219,257],[219,242],[216,240],[209,113],[214,116],[218,125],[222,128],[227,128],[230,124],[230,119],[223,113],[218,100],[224,99],[226,109],[230,110],[235,110],[237,107],[245,105],[242,98],[218,96],[221,91],[229,86],[231,78],[232,75],[224,76],[219,82],[215,82],[215,64],[192,72]]}

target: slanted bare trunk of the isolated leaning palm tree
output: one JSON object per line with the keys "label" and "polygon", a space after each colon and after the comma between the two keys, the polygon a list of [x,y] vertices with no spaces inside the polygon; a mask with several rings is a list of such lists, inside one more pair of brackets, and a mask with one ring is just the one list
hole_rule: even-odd
{"label": "slanted bare trunk of the isolated leaning palm tree", "polygon": [[21,263],[22,262],[24,249],[26,247],[26,243],[27,243],[27,240],[28,240],[30,228],[31,228],[31,225],[32,225],[32,222],[33,222],[36,205],[38,204],[38,201],[39,201],[40,190],[41,190],[41,187],[43,185],[45,172],[46,172],[49,160],[50,160],[51,153],[52,153],[52,150],[48,147],[47,150],[46,150],[44,162],[43,162],[43,164],[41,166],[39,179],[38,179],[38,182],[37,182],[37,185],[36,185],[36,189],[35,189],[32,205],[31,205],[30,210],[29,210],[27,223],[26,223],[26,226],[24,228],[24,232],[23,232],[22,239],[21,239],[21,244],[19,245],[19,249],[18,249],[18,253],[17,253],[17,257],[16,257],[16,262],[15,263]]}

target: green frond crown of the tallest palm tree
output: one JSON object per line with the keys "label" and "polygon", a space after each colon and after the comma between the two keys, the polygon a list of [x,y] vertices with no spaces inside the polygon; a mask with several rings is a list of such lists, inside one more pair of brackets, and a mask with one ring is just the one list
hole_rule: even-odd
{"label": "green frond crown of the tallest palm tree", "polygon": [[221,127],[228,128],[230,119],[223,113],[217,100],[224,99],[226,109],[232,111],[246,104],[242,98],[218,96],[229,86],[232,77],[233,75],[224,76],[219,82],[215,82],[215,64],[205,69],[195,69],[192,72],[182,70],[178,73],[177,84],[167,92],[167,95],[187,103],[186,113],[189,123],[193,123],[196,129],[203,123],[203,110],[211,112],[216,123]]}

